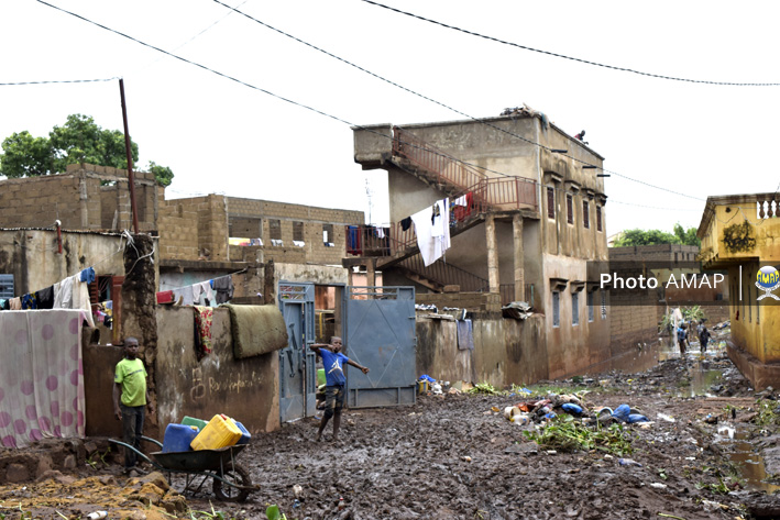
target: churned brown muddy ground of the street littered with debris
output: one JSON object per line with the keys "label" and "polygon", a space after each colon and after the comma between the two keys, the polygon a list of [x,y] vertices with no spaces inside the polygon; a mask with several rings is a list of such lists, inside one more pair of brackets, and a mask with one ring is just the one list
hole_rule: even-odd
{"label": "churned brown muddy ground of the street littered with debris", "polygon": [[[780,518],[778,487],[759,464],[763,453],[767,469],[780,472],[776,395],[756,395],[723,350],[701,356],[694,347],[686,359],[641,374],[530,389],[530,397],[453,392],[419,396],[411,407],[349,410],[338,442],[330,427],[326,442],[315,442],[312,419],[255,435],[240,462],[260,490],[241,504],[217,501],[210,483],[183,496],[160,474],[125,477],[97,450],[91,464],[0,486],[0,518],[106,510],[113,519],[263,519],[272,504],[288,519]],[[540,446],[524,434],[539,431],[534,423],[504,418],[507,406],[575,391],[587,408],[627,403],[650,419],[624,427],[630,453],[615,452],[616,442]]]}

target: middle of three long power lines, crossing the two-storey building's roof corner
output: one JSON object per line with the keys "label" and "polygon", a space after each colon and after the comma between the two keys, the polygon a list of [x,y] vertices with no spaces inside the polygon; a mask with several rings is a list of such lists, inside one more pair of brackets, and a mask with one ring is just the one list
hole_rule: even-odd
{"label": "middle of three long power lines, crossing the two-storey building's roof corner", "polygon": [[[320,47],[318,47],[318,46],[316,46],[316,45],[314,45],[314,44],[310,44],[310,43],[308,43],[308,42],[306,42],[306,41],[304,41],[304,40],[300,40],[299,37],[294,36],[294,35],[292,35],[292,34],[289,34],[289,33],[287,33],[287,32],[285,32],[285,31],[282,31],[281,29],[276,29],[276,27],[274,27],[273,25],[270,25],[270,24],[267,24],[267,23],[265,23],[265,22],[263,22],[263,21],[261,21],[261,20],[257,20],[256,18],[251,16],[250,14],[246,14],[246,13],[240,11],[238,8],[233,8],[233,7],[231,7],[231,5],[228,5],[227,3],[224,3],[224,2],[222,2],[222,1],[220,1],[220,0],[213,0],[213,2],[219,3],[220,5],[223,5],[223,7],[228,8],[228,9],[230,9],[232,12],[235,12],[235,13],[238,13],[238,14],[241,14],[241,15],[243,15],[243,16],[245,16],[245,18],[252,20],[253,22],[256,22],[256,23],[263,25],[264,27],[271,29],[272,31],[275,31],[275,32],[277,32],[277,33],[279,33],[279,34],[282,34],[282,35],[284,35],[284,36],[286,36],[286,37],[289,37],[289,38],[292,38],[292,40],[295,40],[296,42],[301,43],[301,44],[306,45],[307,47],[311,47],[311,48],[314,48],[315,51],[318,51],[318,52],[320,52],[320,53],[322,53],[322,54],[325,54],[325,55],[327,55],[327,56],[332,57],[333,59],[338,59],[338,60],[341,62],[341,63],[344,63],[344,64],[347,64],[347,65],[349,65],[349,66],[351,66],[351,67],[356,68],[358,70],[361,70],[361,71],[363,71],[363,73],[365,73],[365,74],[367,74],[367,75],[370,75],[370,76],[373,76],[373,77],[375,77],[376,79],[380,79],[380,80],[382,80],[382,81],[385,81],[385,82],[387,82],[387,84],[389,84],[389,85],[393,85],[394,87],[397,87],[397,88],[399,88],[399,89],[402,89],[402,90],[404,90],[404,91],[406,91],[406,92],[409,92],[409,93],[411,93],[411,95],[414,95],[414,96],[417,96],[417,97],[419,97],[419,98],[422,98],[422,99],[425,99],[426,101],[430,101],[430,102],[432,102],[432,103],[436,103],[436,104],[438,104],[438,106],[440,106],[440,107],[443,107],[443,108],[446,108],[446,109],[448,109],[448,110],[451,110],[452,112],[455,112],[455,113],[458,113],[458,114],[460,114],[460,115],[463,115],[463,117],[465,117],[465,118],[469,118],[469,119],[471,119],[471,120],[473,120],[473,121],[475,121],[475,122],[479,122],[479,123],[484,124],[484,125],[486,125],[486,126],[490,126],[490,128],[492,128],[492,129],[494,129],[494,130],[497,130],[497,131],[499,131],[499,132],[503,132],[503,133],[505,133],[505,134],[508,134],[508,135],[510,135],[510,136],[513,136],[513,137],[519,139],[520,141],[524,141],[524,142],[526,142],[526,143],[528,143],[528,144],[531,144],[531,145],[534,145],[534,146],[538,146],[538,147],[540,147],[540,148],[547,150],[548,152],[552,152],[552,151],[553,151],[553,148],[551,148],[551,147],[549,147],[549,146],[545,146],[543,144],[537,143],[537,142],[531,141],[531,140],[529,140],[529,139],[526,139],[526,137],[524,137],[524,136],[521,136],[521,135],[518,135],[518,134],[516,134],[516,133],[514,133],[514,132],[509,132],[508,130],[505,130],[505,129],[502,129],[501,126],[497,126],[497,125],[495,125],[495,124],[492,124],[492,123],[485,121],[484,119],[480,119],[480,118],[475,118],[475,117],[473,117],[473,115],[470,115],[470,114],[468,114],[468,113],[465,113],[465,112],[462,112],[462,111],[460,111],[460,110],[458,110],[458,109],[455,109],[455,108],[453,108],[453,107],[450,107],[450,106],[448,106],[448,104],[444,104],[444,103],[442,103],[442,102],[440,102],[440,101],[438,101],[438,100],[436,100],[436,99],[432,99],[432,98],[430,98],[430,97],[428,97],[428,96],[425,96],[425,95],[422,95],[422,93],[419,93],[419,92],[417,92],[417,91],[415,91],[415,90],[411,90],[411,89],[409,89],[409,88],[407,88],[407,87],[404,87],[403,85],[399,85],[399,84],[397,84],[397,82],[395,82],[395,81],[393,81],[393,80],[391,80],[391,79],[387,79],[387,78],[385,78],[385,77],[383,77],[383,76],[381,76],[381,75],[378,75],[378,74],[372,73],[371,70],[369,70],[369,69],[366,69],[366,68],[364,68],[364,67],[361,67],[360,65],[356,65],[356,64],[354,64],[354,63],[352,63],[352,62],[350,62],[350,60],[348,60],[348,59],[344,59],[344,58],[342,58],[342,57],[340,57],[340,56],[337,56],[337,55],[333,54],[333,53],[330,53],[330,52],[328,52],[328,51],[326,51],[326,49],[323,49],[323,48],[320,48]],[[372,2],[372,3],[373,3],[373,2]],[[377,4],[377,5],[382,5],[382,4]],[[443,155],[443,156],[446,156],[446,157],[448,157],[448,158],[451,158],[451,159],[453,159],[453,161],[458,161],[458,159],[455,159],[454,157],[450,157],[450,156],[448,156],[448,155],[446,155],[446,154],[441,154],[441,155]],[[616,173],[616,172],[611,172],[611,170],[605,169],[605,168],[603,168],[603,167],[601,167],[601,166],[592,165],[592,164],[586,163],[585,161],[579,159],[579,158],[576,158],[576,157],[572,157],[572,156],[569,156],[569,155],[565,155],[565,154],[560,154],[560,155],[563,155],[563,156],[565,156],[565,157],[569,157],[569,158],[572,159],[573,162],[580,163],[580,164],[582,164],[582,165],[584,165],[584,166],[595,167],[596,169],[601,169],[602,172],[605,172],[605,173],[615,175],[615,176],[617,176],[617,177],[622,177],[622,178],[627,179],[627,180],[633,180],[633,181],[635,181],[635,182],[639,182],[639,184],[641,184],[641,185],[649,186],[649,187],[651,187],[651,188],[656,188],[656,189],[659,189],[659,190],[662,190],[662,191],[667,191],[667,192],[670,192],[670,193],[679,195],[679,196],[681,196],[681,197],[688,197],[688,198],[694,199],[694,200],[703,200],[703,199],[700,199],[699,197],[693,197],[693,196],[690,196],[690,195],[688,195],[688,193],[681,193],[681,192],[679,192],[679,191],[674,191],[674,190],[671,190],[671,189],[668,189],[668,188],[663,188],[663,187],[660,187],[660,186],[655,186],[655,185],[651,185],[651,184],[649,184],[649,182],[645,182],[645,181],[642,181],[642,180],[638,180],[638,179],[635,179],[635,178],[633,178],[633,177],[628,177],[628,176],[626,176],[626,175],[618,174],[618,173]],[[466,164],[466,163],[464,163],[464,164]],[[502,173],[502,172],[491,170],[491,169],[488,169],[488,168],[485,168],[484,166],[479,166],[479,165],[470,165],[470,166],[473,166],[473,167],[475,167],[475,168],[477,168],[477,169],[482,169],[482,170],[484,170],[484,172],[490,172],[490,173],[493,173],[493,174],[497,174],[497,175],[503,176],[503,177],[514,177],[514,176],[512,176],[512,175],[504,174],[504,173]]]}

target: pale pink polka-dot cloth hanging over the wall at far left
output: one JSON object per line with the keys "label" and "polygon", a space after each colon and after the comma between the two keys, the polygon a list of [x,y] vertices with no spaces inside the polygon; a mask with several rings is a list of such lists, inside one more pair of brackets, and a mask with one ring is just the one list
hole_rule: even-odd
{"label": "pale pink polka-dot cloth hanging over the wall at far left", "polygon": [[84,436],[78,309],[0,312],[0,444]]}

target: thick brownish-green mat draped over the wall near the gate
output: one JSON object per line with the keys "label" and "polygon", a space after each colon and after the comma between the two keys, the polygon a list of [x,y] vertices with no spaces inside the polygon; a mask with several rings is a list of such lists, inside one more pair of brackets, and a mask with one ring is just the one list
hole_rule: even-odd
{"label": "thick brownish-green mat draped over the wall near the gate", "polygon": [[235,358],[259,356],[287,346],[287,328],[276,306],[234,306],[230,310]]}

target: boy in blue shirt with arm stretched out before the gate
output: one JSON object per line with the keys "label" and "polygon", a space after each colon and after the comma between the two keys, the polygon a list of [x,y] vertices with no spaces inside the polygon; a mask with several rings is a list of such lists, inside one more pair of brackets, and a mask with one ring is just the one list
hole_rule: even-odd
{"label": "boy in blue shirt with arm stretched out before the gate", "polygon": [[341,425],[341,409],[344,406],[344,377],[343,365],[352,365],[360,369],[363,374],[369,373],[369,368],[359,365],[341,353],[341,338],[333,336],[330,339],[331,344],[315,343],[309,348],[322,357],[325,365],[325,414],[320,421],[319,431],[317,432],[317,441],[322,439],[322,430],[330,418],[333,418],[333,441],[339,440],[339,427]]}

